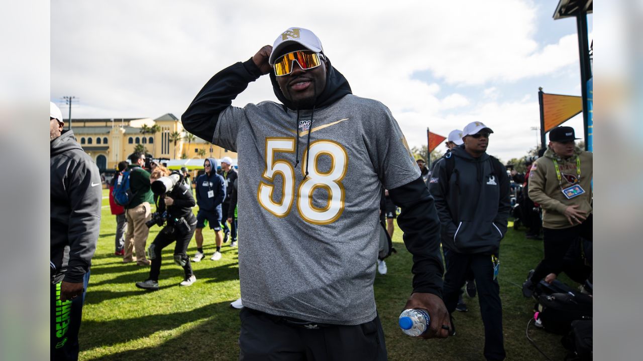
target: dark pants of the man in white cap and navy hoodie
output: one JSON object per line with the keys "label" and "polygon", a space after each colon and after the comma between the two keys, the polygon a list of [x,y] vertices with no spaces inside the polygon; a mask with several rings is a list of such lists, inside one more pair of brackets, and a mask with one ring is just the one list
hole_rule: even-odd
{"label": "dark pants of the man in white cap and navy hoodie", "polygon": [[480,313],[484,323],[484,357],[487,360],[503,360],[505,346],[502,335],[500,286],[498,280],[493,279],[491,255],[449,252],[449,263],[444,276],[444,305],[448,312],[453,314],[458,303],[460,288],[464,286],[469,268],[473,270],[475,277]]}

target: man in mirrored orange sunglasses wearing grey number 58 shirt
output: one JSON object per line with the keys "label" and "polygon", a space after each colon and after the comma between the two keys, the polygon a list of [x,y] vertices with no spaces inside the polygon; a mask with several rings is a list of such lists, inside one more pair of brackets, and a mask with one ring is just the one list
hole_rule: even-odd
{"label": "man in mirrored orange sunglasses wearing grey number 58 shirt", "polygon": [[[280,103],[231,106],[266,74]],[[386,360],[373,291],[382,188],[413,254],[406,308],[430,313],[423,338],[448,337],[433,198],[390,110],[352,95],[312,31],[289,28],[214,75],[181,120],[245,172],[240,359]]]}

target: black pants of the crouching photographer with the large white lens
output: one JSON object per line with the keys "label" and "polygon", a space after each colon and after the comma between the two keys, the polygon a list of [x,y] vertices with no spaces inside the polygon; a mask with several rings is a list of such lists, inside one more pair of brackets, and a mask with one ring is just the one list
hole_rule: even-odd
{"label": "black pants of the crouching photographer with the large white lens", "polygon": [[[190,221],[188,221],[190,222]],[[156,238],[154,238],[154,242],[152,242],[152,245],[150,245],[150,258],[152,260],[152,265],[150,266],[150,276],[148,279],[152,279],[153,281],[158,281],[159,280],[159,274],[161,273],[161,251],[170,243],[174,242],[176,240],[176,245],[174,245],[174,260],[180,260],[181,262],[185,263],[185,266],[183,267],[183,270],[185,271],[185,277],[188,278],[192,276],[192,266],[190,265],[190,258],[188,257],[188,245],[190,244],[190,240],[192,240],[192,235],[194,234],[194,230],[196,229],[196,223],[195,220],[191,220],[190,223],[193,223],[190,225],[190,230],[187,233],[180,233],[174,227],[166,225],[163,227],[161,232],[156,235]],[[153,248],[152,248],[153,246]],[[154,256],[152,256],[152,251],[154,251]]]}

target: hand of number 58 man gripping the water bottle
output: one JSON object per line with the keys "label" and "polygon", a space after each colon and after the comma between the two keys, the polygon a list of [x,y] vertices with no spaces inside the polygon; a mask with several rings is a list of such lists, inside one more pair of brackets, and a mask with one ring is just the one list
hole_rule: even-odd
{"label": "hand of number 58 man gripping the water bottle", "polygon": [[[451,329],[451,321],[449,321],[449,312],[444,306],[442,299],[434,294],[425,294],[421,292],[413,292],[404,309],[408,308],[422,308],[429,312],[431,321],[428,330],[424,331],[420,337],[422,339],[446,339],[449,337],[449,330]],[[442,328],[442,325],[447,326],[449,330]]]}

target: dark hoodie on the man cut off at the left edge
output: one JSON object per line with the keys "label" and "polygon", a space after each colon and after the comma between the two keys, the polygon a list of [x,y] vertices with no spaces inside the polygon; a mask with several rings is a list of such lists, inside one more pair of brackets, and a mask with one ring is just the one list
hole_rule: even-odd
{"label": "dark hoodie on the man cut off at the left edge", "polygon": [[98,241],[100,173],[72,130],[51,141],[50,157],[51,282],[78,283],[89,271]]}

